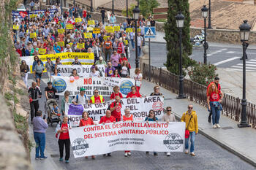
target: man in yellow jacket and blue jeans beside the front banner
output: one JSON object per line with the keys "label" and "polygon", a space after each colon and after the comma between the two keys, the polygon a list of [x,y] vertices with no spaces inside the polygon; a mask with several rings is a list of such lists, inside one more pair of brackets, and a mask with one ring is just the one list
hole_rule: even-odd
{"label": "man in yellow jacket and blue jeans beside the front banner", "polygon": [[189,137],[185,138],[185,153],[189,153],[189,138],[190,138],[190,155],[195,156],[195,135],[198,133],[197,114],[193,110],[193,105],[189,104],[187,112],[181,117],[181,122],[186,123],[186,129],[189,131]]}

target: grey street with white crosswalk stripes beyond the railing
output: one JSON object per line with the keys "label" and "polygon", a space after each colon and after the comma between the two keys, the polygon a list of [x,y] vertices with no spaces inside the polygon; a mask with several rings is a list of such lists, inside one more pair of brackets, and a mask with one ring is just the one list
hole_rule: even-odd
{"label": "grey street with white crosswalk stripes beyond the railing", "polygon": [[[147,44],[147,43],[146,43]],[[246,50],[248,60],[246,61],[246,71],[256,72],[256,50]],[[225,45],[214,43],[209,44],[207,50],[208,62],[213,63],[217,67],[226,68],[235,71],[242,71],[242,61],[239,60],[242,56],[242,48],[239,45]],[[203,62],[203,47],[193,47],[191,58],[195,61]],[[135,53],[131,53],[130,61],[135,60]],[[151,42],[151,65],[164,67],[166,62],[166,44]],[[135,66],[135,61],[131,62]]]}

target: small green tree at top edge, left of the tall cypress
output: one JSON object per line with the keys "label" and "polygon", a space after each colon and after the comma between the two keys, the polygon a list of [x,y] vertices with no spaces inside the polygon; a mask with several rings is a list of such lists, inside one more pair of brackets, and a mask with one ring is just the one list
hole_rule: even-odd
{"label": "small green tree at top edge, left of the tall cypress", "polygon": [[140,0],[140,13],[143,17],[148,18],[153,13],[153,8],[159,6],[157,0]]}

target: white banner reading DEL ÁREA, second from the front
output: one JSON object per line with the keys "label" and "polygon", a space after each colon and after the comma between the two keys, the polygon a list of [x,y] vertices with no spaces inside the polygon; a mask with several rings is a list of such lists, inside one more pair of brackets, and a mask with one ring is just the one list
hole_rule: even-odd
{"label": "white banner reading DEL \u00c1REA, second from the front", "polygon": [[[66,104],[65,113],[69,116],[69,122],[72,126],[78,126],[80,119],[82,118],[83,111],[89,113],[89,117],[93,120],[100,120],[102,116],[105,116],[105,112],[108,106],[113,101],[107,101],[103,104]],[[148,96],[146,98],[122,98],[121,103],[121,115],[124,115],[124,109],[129,108],[130,113],[133,115],[134,120],[145,120],[148,116],[149,110],[153,109],[158,119],[164,114],[164,98],[162,96]]]}

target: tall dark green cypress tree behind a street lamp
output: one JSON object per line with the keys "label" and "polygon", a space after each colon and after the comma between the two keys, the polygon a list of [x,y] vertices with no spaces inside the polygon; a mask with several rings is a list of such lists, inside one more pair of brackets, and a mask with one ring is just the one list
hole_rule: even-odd
{"label": "tall dark green cypress tree behind a street lamp", "polygon": [[[189,1],[188,0],[168,0],[167,22],[165,23],[165,41],[167,47],[167,62],[165,66],[173,74],[178,72],[178,59],[179,59],[179,31],[176,26],[176,15],[182,12],[185,17],[184,28],[182,28],[182,68],[188,69],[190,66],[196,64],[189,55],[192,54],[192,45],[189,42]],[[183,72],[184,76],[186,72]]]}

